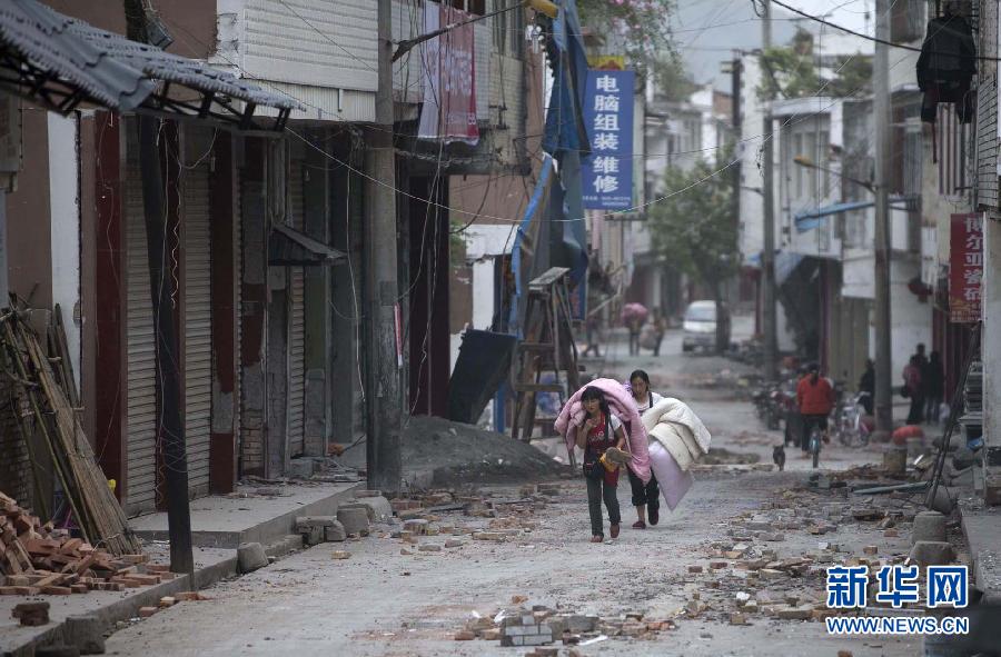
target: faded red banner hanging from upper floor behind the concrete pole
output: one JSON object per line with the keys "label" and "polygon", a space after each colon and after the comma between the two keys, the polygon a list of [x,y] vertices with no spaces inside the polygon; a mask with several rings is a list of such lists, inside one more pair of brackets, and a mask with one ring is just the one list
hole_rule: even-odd
{"label": "faded red banner hanging from upper floor behind the concrete pole", "polygon": [[[448,4],[425,2],[424,30],[460,26],[432,39],[424,46],[424,107],[418,137],[445,142],[479,141],[476,123],[476,33],[473,18]],[[466,23],[466,24],[463,24]]]}

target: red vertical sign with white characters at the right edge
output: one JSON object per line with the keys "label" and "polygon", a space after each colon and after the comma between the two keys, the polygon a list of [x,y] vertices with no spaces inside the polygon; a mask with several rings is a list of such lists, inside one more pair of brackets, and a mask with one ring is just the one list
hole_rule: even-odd
{"label": "red vertical sign with white characters at the right edge", "polygon": [[952,215],[949,243],[949,321],[980,321],[983,215]]}

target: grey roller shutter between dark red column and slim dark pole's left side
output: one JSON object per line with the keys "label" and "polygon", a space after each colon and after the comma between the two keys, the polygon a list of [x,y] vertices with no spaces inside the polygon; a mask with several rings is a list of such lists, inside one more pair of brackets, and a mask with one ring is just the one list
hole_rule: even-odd
{"label": "grey roller shutter between dark red column and slim dark pole's left side", "polygon": [[[129,152],[138,149],[129,145]],[[130,516],[157,506],[156,336],[146,251],[146,218],[139,166],[130,161],[126,180],[126,511]]]}

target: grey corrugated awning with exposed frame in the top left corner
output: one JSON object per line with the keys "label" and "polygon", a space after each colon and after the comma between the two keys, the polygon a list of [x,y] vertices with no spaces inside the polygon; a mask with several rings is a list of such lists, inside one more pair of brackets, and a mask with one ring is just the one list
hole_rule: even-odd
{"label": "grey corrugated awning with exposed frame in the top left corner", "polygon": [[299,107],[289,97],[95,28],[36,0],[0,3],[0,87],[61,113],[88,102],[117,111],[214,119],[241,129],[254,127],[257,107],[279,110],[268,126],[272,130],[283,129]]}

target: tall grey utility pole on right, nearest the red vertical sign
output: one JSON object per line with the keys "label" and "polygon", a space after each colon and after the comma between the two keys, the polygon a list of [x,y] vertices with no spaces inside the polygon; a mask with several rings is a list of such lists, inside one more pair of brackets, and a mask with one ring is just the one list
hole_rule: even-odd
{"label": "tall grey utility pole on right, nearest the red vertical sign", "polygon": [[[876,0],[876,39],[890,40],[889,0]],[[875,420],[878,431],[893,430],[893,365],[890,337],[890,52],[876,41],[872,67],[875,120]]]}

